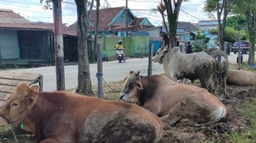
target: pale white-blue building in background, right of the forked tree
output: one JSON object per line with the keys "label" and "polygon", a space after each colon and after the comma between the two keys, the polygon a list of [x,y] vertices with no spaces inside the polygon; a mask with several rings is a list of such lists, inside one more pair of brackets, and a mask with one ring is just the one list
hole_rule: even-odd
{"label": "pale white-blue building in background, right of the forked tree", "polygon": [[[221,20],[222,23],[223,20]],[[203,30],[207,29],[217,29],[218,28],[218,20],[200,20],[198,23],[193,23],[195,27]]]}

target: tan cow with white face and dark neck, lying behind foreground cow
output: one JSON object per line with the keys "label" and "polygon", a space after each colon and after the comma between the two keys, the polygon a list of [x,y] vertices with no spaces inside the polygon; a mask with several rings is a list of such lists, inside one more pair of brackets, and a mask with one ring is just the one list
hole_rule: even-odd
{"label": "tan cow with white face and dark neck, lying behind foreground cow", "polygon": [[131,100],[173,125],[187,122],[206,125],[226,115],[226,107],[206,89],[178,84],[160,75],[140,76],[130,71],[125,77],[121,100]]}

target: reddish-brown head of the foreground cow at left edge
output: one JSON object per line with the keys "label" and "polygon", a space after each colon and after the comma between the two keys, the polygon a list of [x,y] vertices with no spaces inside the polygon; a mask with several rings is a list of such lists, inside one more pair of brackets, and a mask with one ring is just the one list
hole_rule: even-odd
{"label": "reddish-brown head of the foreground cow at left edge", "polygon": [[0,126],[5,126],[8,122],[13,125],[22,122],[31,107],[36,103],[33,93],[38,91],[38,89],[39,86],[29,88],[26,84],[17,86],[0,109]]}

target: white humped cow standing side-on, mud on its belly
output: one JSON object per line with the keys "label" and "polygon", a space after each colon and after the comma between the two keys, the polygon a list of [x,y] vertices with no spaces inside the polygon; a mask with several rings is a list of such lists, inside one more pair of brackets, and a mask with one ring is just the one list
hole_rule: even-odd
{"label": "white humped cow standing side-on, mud on its belly", "polygon": [[153,62],[163,64],[165,73],[172,81],[182,79],[184,83],[184,78],[190,79],[191,82],[199,79],[202,88],[212,92],[212,77],[216,63],[205,52],[183,54],[179,47],[174,47],[169,52],[162,46],[157,50]]}

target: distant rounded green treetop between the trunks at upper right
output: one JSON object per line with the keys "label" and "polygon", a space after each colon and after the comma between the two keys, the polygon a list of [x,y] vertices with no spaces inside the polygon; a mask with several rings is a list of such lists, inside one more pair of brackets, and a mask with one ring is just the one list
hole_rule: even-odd
{"label": "distant rounded green treetop between the trunks at upper right", "polygon": [[246,27],[246,19],[245,16],[243,15],[237,15],[237,16],[230,16],[227,18],[226,21],[226,27],[241,27],[245,28]]}

